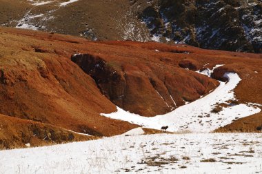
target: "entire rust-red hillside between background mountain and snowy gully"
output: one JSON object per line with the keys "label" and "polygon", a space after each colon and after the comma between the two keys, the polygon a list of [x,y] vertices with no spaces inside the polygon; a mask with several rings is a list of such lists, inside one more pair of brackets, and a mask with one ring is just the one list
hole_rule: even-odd
{"label": "entire rust-red hillside between background mountain and snowy gully", "polygon": [[[208,63],[205,67],[225,64],[216,70],[216,79],[228,70],[239,73],[242,81],[235,89],[239,101],[262,104],[261,54],[154,42],[92,42],[15,28],[0,28],[0,49],[0,113],[81,133],[110,136],[137,127],[101,117],[100,113],[116,110],[112,102],[131,112],[152,116],[174,107],[170,95],[178,106],[198,99],[218,85],[216,80],[193,71]],[[86,55],[77,59],[77,64],[88,74],[70,59],[79,52]],[[90,72],[86,68],[89,64],[85,61],[90,60],[87,57],[105,61],[105,71],[92,66],[95,72]],[[90,75],[99,79],[98,86]],[[259,113],[238,122],[249,122],[249,129],[254,131],[259,122],[253,121],[261,117]]]}

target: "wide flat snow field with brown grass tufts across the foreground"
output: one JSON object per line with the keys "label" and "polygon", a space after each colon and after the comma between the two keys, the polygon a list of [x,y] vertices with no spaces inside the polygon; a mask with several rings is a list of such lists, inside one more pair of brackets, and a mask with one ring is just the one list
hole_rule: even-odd
{"label": "wide flat snow field with brown grass tufts across the foreground", "polygon": [[262,134],[119,135],[0,151],[0,164],[0,173],[262,173]]}

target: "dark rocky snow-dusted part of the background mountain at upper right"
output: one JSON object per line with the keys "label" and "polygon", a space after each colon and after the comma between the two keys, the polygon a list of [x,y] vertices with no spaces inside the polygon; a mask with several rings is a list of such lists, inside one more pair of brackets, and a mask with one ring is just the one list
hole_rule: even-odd
{"label": "dark rocky snow-dusted part of the background mountain at upper right", "polygon": [[159,41],[201,48],[261,52],[260,1],[161,0],[139,15]]}

